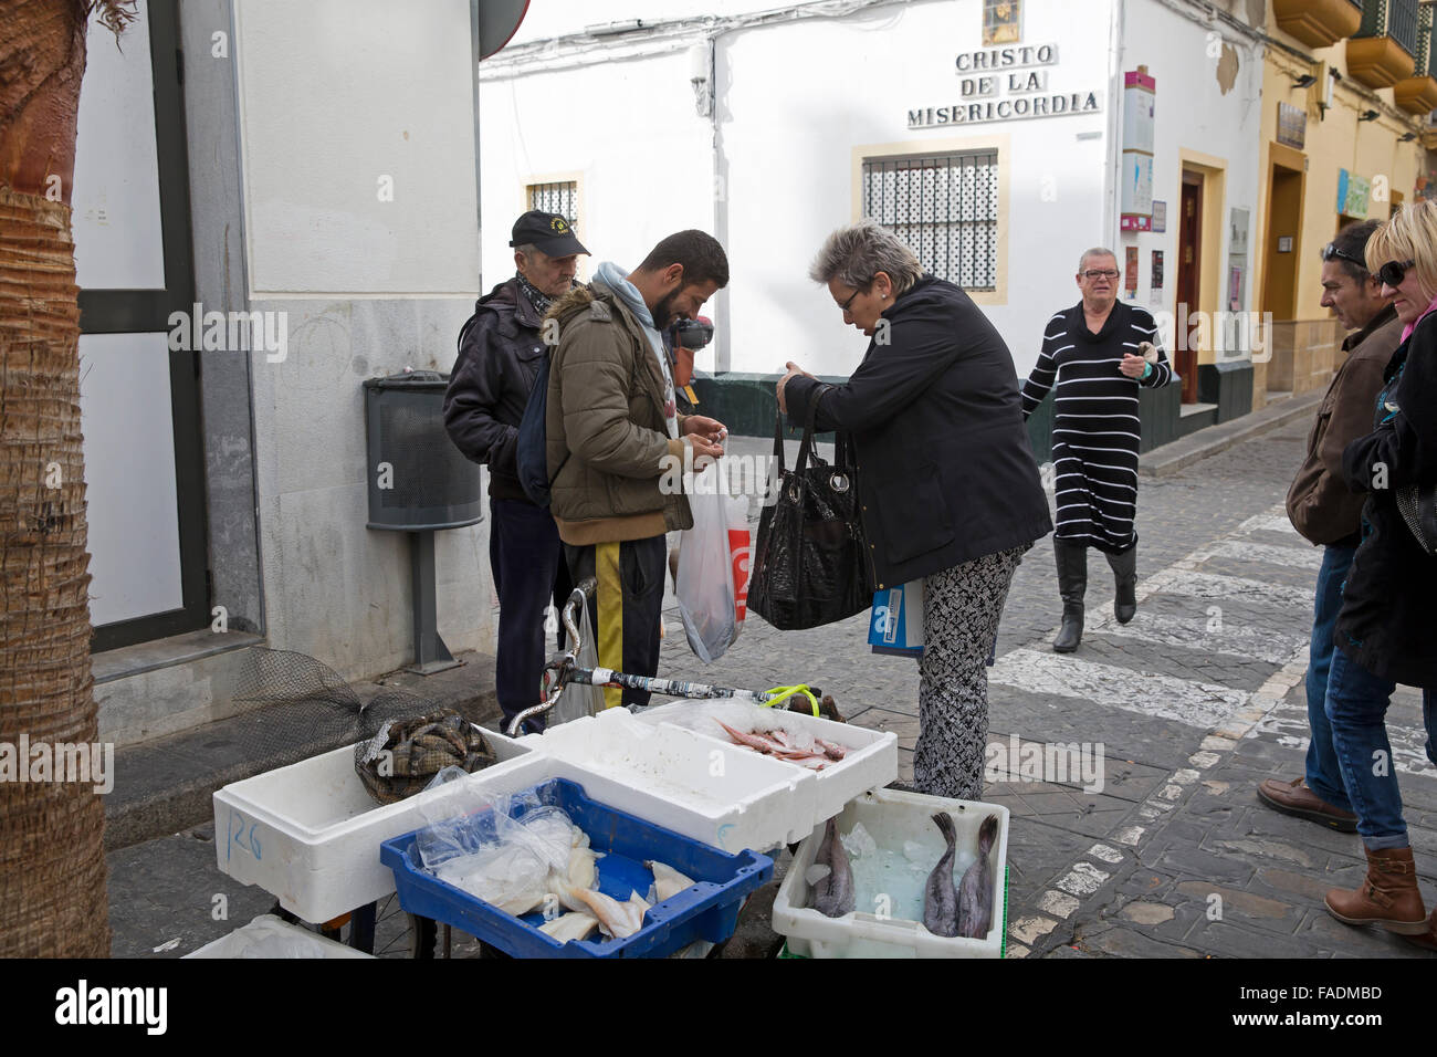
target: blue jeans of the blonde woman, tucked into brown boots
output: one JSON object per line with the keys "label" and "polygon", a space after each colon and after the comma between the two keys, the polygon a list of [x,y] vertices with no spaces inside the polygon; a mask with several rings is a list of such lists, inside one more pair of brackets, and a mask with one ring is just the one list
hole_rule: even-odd
{"label": "blue jeans of the blonde woman, tucked into brown boots", "polygon": [[[1341,649],[1332,654],[1328,673],[1328,720],[1336,748],[1348,800],[1357,813],[1357,831],[1371,850],[1408,847],[1403,821],[1403,797],[1397,788],[1392,745],[1387,739],[1387,706],[1397,685],[1374,676]],[[1437,764],[1433,738],[1434,695],[1423,690],[1423,723],[1427,728],[1427,758]]]}

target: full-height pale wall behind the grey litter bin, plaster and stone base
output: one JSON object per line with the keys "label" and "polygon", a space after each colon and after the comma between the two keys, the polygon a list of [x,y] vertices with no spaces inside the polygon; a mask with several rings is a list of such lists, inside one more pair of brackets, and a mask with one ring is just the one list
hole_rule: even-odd
{"label": "full-height pale wall behind the grey litter bin, plaster and stone base", "polygon": [[[410,555],[368,519],[365,378],[447,371],[479,280],[468,4],[236,3],[269,646],[410,660]],[[487,526],[441,532],[440,633],[487,646]]]}

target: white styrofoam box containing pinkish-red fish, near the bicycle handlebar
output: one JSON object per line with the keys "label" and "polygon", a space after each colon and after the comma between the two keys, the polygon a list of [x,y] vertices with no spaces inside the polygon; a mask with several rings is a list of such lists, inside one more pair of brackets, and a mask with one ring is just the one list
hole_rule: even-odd
{"label": "white styrofoam box containing pinkish-red fish, near the bicycle handlebar", "polygon": [[[726,709],[752,710],[756,719],[779,722],[787,729],[800,728],[815,738],[826,742],[844,745],[849,749],[844,759],[826,764],[822,771],[809,771],[798,764],[777,761],[785,767],[813,775],[813,817],[805,831],[813,824],[832,818],[844,805],[861,792],[877,790],[898,778],[898,735],[891,731],[869,731],[852,723],[835,723],[832,719],[822,719],[802,712],[787,712],[783,709],[766,709],[759,705],[749,705],[734,699],[720,699]],[[638,713],[638,719],[645,723],[665,723],[674,726],[677,719],[684,718],[691,722],[694,713],[701,713],[707,705],[718,702],[708,700],[675,700],[668,705],[648,709]],[[727,722],[727,720],[726,720]],[[730,726],[733,726],[730,723]],[[693,728],[684,728],[693,729]],[[739,728],[734,728],[739,729]],[[730,745],[729,735],[717,723],[706,723],[697,733],[703,736],[713,732],[713,739],[721,745]],[[744,749],[746,751],[746,749]]]}

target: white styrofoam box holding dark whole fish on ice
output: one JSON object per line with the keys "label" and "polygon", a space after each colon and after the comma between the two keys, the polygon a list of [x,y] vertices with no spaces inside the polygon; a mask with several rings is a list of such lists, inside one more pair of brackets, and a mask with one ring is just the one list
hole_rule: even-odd
{"label": "white styrofoam box holding dark whole fish on ice", "polygon": [[[963,936],[934,936],[923,926],[921,893],[928,873],[937,866],[947,844],[933,823],[937,811],[953,815],[957,831],[957,860],[953,883],[963,880],[963,870],[977,856],[979,825],[990,814],[999,817],[997,838],[989,851],[993,882],[993,926],[983,939]],[[823,840],[823,825],[799,846],[793,864],[779,886],[773,900],[773,930],[787,936],[789,952],[808,958],[999,958],[1003,951],[1003,873],[1007,863],[1007,808],[971,800],[946,800],[918,792],[875,790],[865,792],[838,815],[838,830],[848,834],[862,823],[881,850],[904,857],[904,844],[918,844],[915,861],[921,870],[914,876],[895,879],[892,887],[917,882],[918,903],[914,918],[898,916],[904,907],[894,906],[892,916],[877,913],[884,909],[888,893],[874,892],[856,883],[856,906],[842,918],[826,918],[808,906],[809,884],[805,873]],[[911,847],[910,844],[910,847]],[[859,866],[855,864],[855,882]],[[891,900],[898,902],[898,900]]]}

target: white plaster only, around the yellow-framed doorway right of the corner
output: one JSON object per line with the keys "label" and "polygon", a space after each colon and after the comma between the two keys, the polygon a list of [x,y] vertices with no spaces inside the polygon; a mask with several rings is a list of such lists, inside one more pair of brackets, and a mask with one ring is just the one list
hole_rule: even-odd
{"label": "white plaster only, around the yellow-framed doorway right of the corner", "polygon": [[[1257,144],[1262,141],[1262,55],[1257,46],[1249,46],[1234,37],[1216,39],[1207,26],[1190,22],[1164,7],[1155,0],[1128,0],[1122,37],[1122,69],[1148,68],[1148,75],[1157,81],[1157,102],[1154,112],[1154,157],[1152,197],[1167,203],[1167,232],[1163,234],[1138,232],[1115,236],[1122,246],[1138,247],[1138,296],[1137,303],[1150,303],[1152,253],[1163,250],[1164,290],[1163,305],[1173,311],[1177,286],[1177,233],[1178,206],[1181,203],[1183,160],[1181,151],[1197,151],[1226,161],[1226,191],[1220,204],[1223,239],[1220,257],[1220,282],[1227,283],[1227,219],[1233,209],[1246,209],[1247,229],[1247,289],[1244,311],[1255,305],[1253,260],[1259,250],[1257,198]],[[1217,63],[1213,52],[1220,52],[1223,43],[1232,45],[1237,55],[1237,78],[1232,89],[1223,93],[1217,81]],[[1216,43],[1216,46],[1214,46]],[[1276,105],[1276,104],[1273,104]],[[1121,127],[1119,127],[1121,128]],[[1121,131],[1119,131],[1121,137]],[[1121,142],[1115,145],[1121,151]],[[1219,207],[1210,201],[1204,190],[1203,209]],[[1122,266],[1119,253],[1119,267]],[[1221,296],[1226,305],[1226,293]]]}

